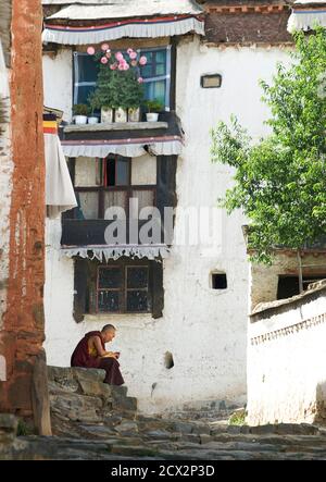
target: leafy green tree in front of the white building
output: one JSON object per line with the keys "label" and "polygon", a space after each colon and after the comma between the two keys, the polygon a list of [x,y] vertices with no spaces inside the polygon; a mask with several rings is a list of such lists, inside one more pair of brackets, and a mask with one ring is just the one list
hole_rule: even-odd
{"label": "leafy green tree in front of the white building", "polygon": [[291,66],[278,64],[273,84],[261,82],[271,135],[254,145],[235,116],[212,131],[212,161],[236,169],[221,206],[243,210],[259,262],[271,262],[277,246],[297,250],[300,262],[326,234],[326,30],[294,40]]}

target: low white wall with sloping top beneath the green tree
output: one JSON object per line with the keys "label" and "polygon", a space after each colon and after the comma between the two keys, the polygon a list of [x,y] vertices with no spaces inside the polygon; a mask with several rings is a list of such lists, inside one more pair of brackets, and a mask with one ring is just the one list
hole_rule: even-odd
{"label": "low white wall with sloping top beneath the green tree", "polygon": [[326,421],[326,282],[251,316],[248,423]]}

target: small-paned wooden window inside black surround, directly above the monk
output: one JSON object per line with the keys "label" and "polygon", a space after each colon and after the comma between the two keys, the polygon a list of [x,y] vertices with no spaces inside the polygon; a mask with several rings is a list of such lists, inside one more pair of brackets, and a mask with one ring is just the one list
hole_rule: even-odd
{"label": "small-paned wooden window inside black surround, directly above the monk", "polygon": [[97,312],[150,311],[149,265],[128,263],[98,268]]}

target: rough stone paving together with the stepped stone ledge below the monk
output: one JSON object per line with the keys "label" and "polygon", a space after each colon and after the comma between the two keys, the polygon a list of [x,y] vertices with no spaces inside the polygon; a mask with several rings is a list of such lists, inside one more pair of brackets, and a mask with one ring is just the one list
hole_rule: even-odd
{"label": "rough stone paving together with the stepped stone ledge below the monk", "polygon": [[16,437],[0,416],[0,459],[313,460],[326,459],[326,430],[308,424],[235,427],[227,421],[143,417],[127,388],[103,385],[101,371],[49,370],[53,436]]}

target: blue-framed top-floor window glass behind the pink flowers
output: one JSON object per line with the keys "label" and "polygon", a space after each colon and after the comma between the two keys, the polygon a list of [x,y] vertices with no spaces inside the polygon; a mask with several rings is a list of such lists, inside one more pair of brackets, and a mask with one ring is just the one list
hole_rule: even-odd
{"label": "blue-framed top-floor window glass behind the pink flowers", "polygon": [[[171,46],[139,49],[147,57],[147,64],[140,69],[145,81],[145,98],[160,100],[170,110],[171,89]],[[95,90],[98,66],[93,57],[85,52],[74,52],[74,104],[87,103],[88,96]]]}

